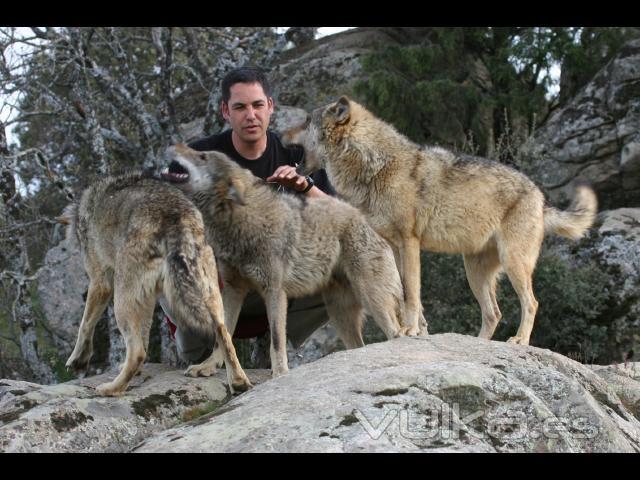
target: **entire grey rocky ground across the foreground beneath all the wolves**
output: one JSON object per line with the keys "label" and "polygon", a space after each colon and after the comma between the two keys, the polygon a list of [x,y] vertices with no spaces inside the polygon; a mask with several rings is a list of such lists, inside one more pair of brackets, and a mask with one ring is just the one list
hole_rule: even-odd
{"label": "entire grey rocky ground across the foreground beneath all the wolves", "polygon": [[231,398],[145,365],[55,386],[0,380],[0,452],[640,452],[640,363],[586,366],[459,334],[333,353]]}

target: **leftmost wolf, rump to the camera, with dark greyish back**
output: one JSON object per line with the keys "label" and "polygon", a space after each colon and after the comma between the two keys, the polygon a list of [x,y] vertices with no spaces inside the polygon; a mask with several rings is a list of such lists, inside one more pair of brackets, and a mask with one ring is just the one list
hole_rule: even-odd
{"label": "leftmost wolf, rump to the camera, with dark greyish back", "polygon": [[142,368],[153,310],[161,298],[182,328],[221,345],[229,388],[251,383],[225,328],[215,258],[200,211],[178,189],[142,172],[108,176],[86,188],[61,218],[66,238],[80,247],[89,276],[78,338],[66,366],[86,371],[96,323],[113,296],[126,360],[112,381],[98,385],[118,396]]}

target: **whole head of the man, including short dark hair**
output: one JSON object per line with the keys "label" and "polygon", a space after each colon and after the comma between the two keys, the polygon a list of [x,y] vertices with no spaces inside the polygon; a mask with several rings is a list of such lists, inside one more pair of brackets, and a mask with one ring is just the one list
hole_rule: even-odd
{"label": "whole head of the man, including short dark hair", "polygon": [[222,79],[222,115],[242,142],[264,138],[272,113],[271,88],[262,69],[240,67]]}

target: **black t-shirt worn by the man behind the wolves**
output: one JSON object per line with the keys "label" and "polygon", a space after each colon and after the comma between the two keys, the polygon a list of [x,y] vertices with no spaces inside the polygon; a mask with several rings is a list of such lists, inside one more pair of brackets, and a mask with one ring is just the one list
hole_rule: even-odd
{"label": "black t-shirt worn by the man behind the wolves", "polygon": [[[216,152],[225,153],[235,160],[238,165],[250,170],[256,177],[262,179],[269,177],[281,165],[296,166],[304,159],[304,150],[301,147],[285,147],[275,132],[267,130],[267,149],[260,158],[247,160],[233,146],[231,132],[231,130],[225,130],[222,133],[195,140],[189,143],[189,147],[201,152],[215,150]],[[318,170],[311,177],[316,187],[324,193],[335,196],[336,191],[329,183],[327,172]],[[275,187],[277,188],[278,185],[275,185]]]}

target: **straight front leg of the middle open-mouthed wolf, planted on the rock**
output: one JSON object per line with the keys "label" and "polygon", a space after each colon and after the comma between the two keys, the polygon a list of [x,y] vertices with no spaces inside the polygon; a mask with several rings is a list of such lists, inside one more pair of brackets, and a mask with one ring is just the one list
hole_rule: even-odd
{"label": "straight front leg of the middle open-mouthed wolf, planted on the rock", "polygon": [[264,303],[267,307],[271,329],[271,372],[273,378],[289,371],[287,362],[287,295],[283,289],[266,292]]}

